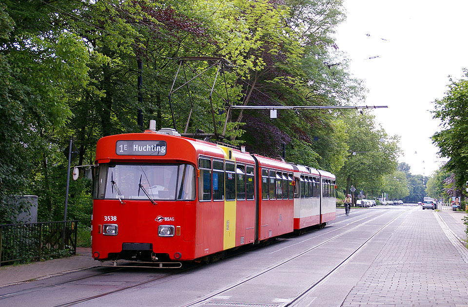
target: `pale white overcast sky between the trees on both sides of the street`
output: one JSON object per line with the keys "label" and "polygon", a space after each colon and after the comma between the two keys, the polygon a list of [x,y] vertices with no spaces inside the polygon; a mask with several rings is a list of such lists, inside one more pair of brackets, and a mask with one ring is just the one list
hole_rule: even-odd
{"label": "pale white overcast sky between the trees on both sides of the street", "polygon": [[468,1],[344,0],[344,6],[339,50],[364,80],[366,104],[389,106],[372,113],[388,134],[401,136],[400,162],[429,176],[447,160],[430,140],[440,130],[432,102],[445,96],[449,75],[459,79],[468,67]]}

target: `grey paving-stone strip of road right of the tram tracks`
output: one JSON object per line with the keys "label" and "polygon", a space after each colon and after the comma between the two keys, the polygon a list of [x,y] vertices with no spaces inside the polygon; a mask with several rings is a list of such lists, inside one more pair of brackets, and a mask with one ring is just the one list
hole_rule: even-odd
{"label": "grey paving-stone strip of road right of the tram tracks", "polygon": [[342,306],[468,307],[468,266],[431,211],[411,211]]}

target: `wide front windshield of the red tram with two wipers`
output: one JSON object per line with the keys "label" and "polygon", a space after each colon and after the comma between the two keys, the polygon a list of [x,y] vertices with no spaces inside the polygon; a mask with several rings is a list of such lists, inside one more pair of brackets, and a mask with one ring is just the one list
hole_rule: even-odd
{"label": "wide front windshield of the red tram with two wipers", "polygon": [[195,168],[189,164],[103,163],[97,172],[98,199],[195,199]]}

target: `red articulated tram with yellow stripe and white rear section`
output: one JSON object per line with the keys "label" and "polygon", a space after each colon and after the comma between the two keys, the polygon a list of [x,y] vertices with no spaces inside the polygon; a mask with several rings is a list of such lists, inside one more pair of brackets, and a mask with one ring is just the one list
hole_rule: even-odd
{"label": "red articulated tram with yellow stripe and white rear section", "polygon": [[335,218],[331,173],[169,129],[103,137],[96,164],[91,236],[101,261],[174,267]]}

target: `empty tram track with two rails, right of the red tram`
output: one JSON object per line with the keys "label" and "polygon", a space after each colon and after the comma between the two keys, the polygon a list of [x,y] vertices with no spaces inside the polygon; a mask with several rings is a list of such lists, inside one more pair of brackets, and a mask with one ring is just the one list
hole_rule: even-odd
{"label": "empty tram track with two rails, right of the red tram", "polygon": [[[410,209],[409,209],[410,210]],[[293,306],[297,306],[298,303],[301,302],[301,299],[305,298],[310,292],[312,292],[317,286],[319,286],[323,281],[325,281],[331,274],[333,274],[333,272],[335,272],[337,269],[339,269],[340,267],[342,267],[344,264],[346,264],[359,250],[361,250],[362,248],[364,248],[369,242],[370,240],[375,237],[380,231],[384,230],[386,227],[388,227],[391,223],[393,223],[393,221],[395,221],[398,217],[400,217],[403,213],[409,211],[409,210],[404,210],[402,211],[401,213],[399,213],[397,216],[395,216],[394,218],[392,218],[389,222],[387,222],[384,226],[382,226],[379,230],[375,231],[364,243],[362,243],[359,247],[357,247],[356,249],[354,249],[344,260],[342,260],[338,265],[334,266],[328,273],[326,273],[325,275],[323,275],[317,282],[315,282],[314,284],[312,284],[312,286],[310,286],[309,288],[305,289],[304,291],[302,291],[301,293],[299,293],[296,297],[294,297],[289,303],[285,303],[285,304],[282,304],[282,305],[271,305],[271,306],[281,306],[281,307],[293,307]],[[388,212],[390,214],[390,212]],[[228,306],[230,304],[234,304],[234,305],[231,305],[231,306],[236,306],[235,303],[228,303],[226,304],[226,302],[210,302],[211,299],[217,297],[217,296],[220,296],[222,294],[225,294],[227,291],[230,291],[230,290],[233,290],[237,287],[240,287],[244,284],[246,284],[247,282],[249,281],[252,281],[254,280],[255,278],[267,273],[267,272],[270,272],[274,269],[277,269],[278,267],[294,260],[294,259],[297,259],[301,256],[303,256],[304,254],[312,251],[313,249],[317,249],[318,247],[320,246],[323,246],[343,235],[345,235],[346,233],[349,233],[351,232],[352,230],[356,230],[357,228],[359,227],[362,227],[368,223],[370,223],[371,221],[379,218],[379,217],[382,217],[383,215],[378,215],[378,216],[375,216],[373,218],[371,218],[370,220],[362,223],[362,224],[359,224],[353,228],[351,228],[350,230],[346,230],[342,233],[339,233],[329,239],[326,239],[320,243],[317,243],[316,245],[312,246],[311,248],[309,249],[305,249],[305,250],[302,250],[294,255],[292,255],[291,257],[289,258],[286,258],[266,269],[263,269],[263,270],[260,270],[234,284],[231,284],[230,286],[226,287],[226,288],[223,288],[223,289],[220,289],[218,291],[215,291],[213,293],[210,293],[209,295],[201,298],[201,299],[198,299],[194,302],[191,302],[187,305],[183,305],[181,307],[199,307],[199,306],[203,306],[203,305],[206,305],[206,306],[210,306],[210,305],[220,305],[220,306]],[[362,219],[365,219],[365,218],[362,218]],[[362,220],[360,219],[360,220]],[[341,222],[341,221],[340,221]],[[336,224],[336,223],[334,223]],[[329,232],[328,232],[329,233]],[[238,306],[244,306],[245,304],[238,304]],[[252,304],[252,306],[255,306],[255,305],[264,305],[264,304]],[[245,305],[247,306],[247,305]],[[265,305],[266,306],[266,305]],[[269,305],[270,306],[270,305]]]}

